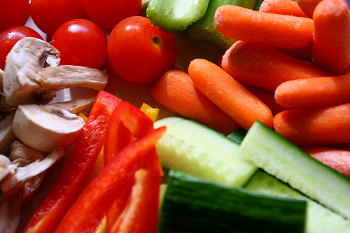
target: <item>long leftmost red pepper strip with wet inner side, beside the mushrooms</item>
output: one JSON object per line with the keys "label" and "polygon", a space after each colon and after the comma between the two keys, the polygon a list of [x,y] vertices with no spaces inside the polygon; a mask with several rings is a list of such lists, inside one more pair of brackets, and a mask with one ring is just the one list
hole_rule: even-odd
{"label": "long leftmost red pepper strip with wet inner side, beside the mushrooms", "polygon": [[99,91],[69,159],[23,232],[53,232],[85,187],[104,143],[106,125],[121,99]]}

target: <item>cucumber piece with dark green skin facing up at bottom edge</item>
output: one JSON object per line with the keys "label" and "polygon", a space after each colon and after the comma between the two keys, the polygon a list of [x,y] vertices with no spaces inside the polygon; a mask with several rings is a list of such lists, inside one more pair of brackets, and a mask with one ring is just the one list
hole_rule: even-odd
{"label": "cucumber piece with dark green skin facing up at bottom edge", "polygon": [[307,202],[170,171],[158,232],[304,232]]}

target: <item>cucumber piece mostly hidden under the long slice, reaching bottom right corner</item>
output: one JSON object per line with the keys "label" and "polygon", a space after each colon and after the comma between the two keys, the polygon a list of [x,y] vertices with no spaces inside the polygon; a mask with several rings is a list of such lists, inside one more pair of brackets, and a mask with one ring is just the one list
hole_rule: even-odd
{"label": "cucumber piece mostly hidden under the long slice, reaching bottom right corner", "polygon": [[293,190],[269,174],[258,171],[245,186],[247,190],[278,197],[293,197],[307,200],[307,224],[305,233],[349,233],[350,221],[330,211],[321,204]]}

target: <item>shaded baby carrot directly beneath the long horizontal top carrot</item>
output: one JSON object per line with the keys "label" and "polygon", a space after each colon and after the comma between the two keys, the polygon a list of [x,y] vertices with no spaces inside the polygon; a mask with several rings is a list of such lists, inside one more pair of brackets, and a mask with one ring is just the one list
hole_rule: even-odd
{"label": "shaded baby carrot directly beneath the long horizontal top carrot", "polygon": [[332,76],[311,62],[246,41],[236,41],[223,55],[221,65],[239,82],[272,92],[287,80]]}

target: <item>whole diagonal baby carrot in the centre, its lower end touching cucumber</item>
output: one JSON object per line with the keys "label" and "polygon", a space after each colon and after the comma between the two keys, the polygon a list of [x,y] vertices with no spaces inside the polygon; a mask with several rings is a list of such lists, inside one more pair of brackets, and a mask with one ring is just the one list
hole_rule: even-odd
{"label": "whole diagonal baby carrot in the centre, its lower end touching cucumber", "polygon": [[188,73],[195,86],[244,129],[256,120],[272,127],[271,110],[220,66],[207,59],[193,59]]}

